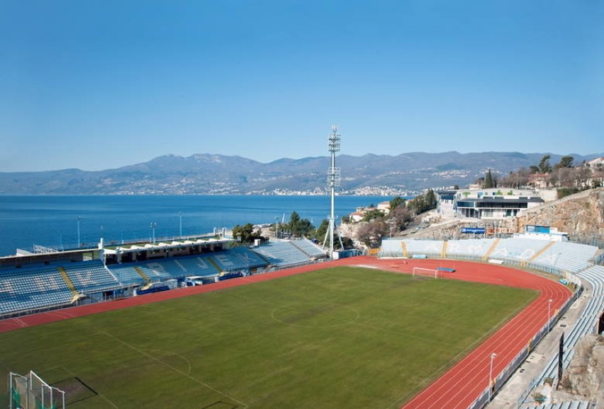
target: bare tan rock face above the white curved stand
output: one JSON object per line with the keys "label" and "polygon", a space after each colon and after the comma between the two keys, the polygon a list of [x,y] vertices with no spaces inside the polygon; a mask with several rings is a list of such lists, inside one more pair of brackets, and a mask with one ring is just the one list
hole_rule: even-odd
{"label": "bare tan rock face above the white curved stand", "polygon": [[587,190],[547,202],[520,212],[516,218],[518,233],[528,224],[556,227],[574,240],[592,241],[604,238],[604,188]]}

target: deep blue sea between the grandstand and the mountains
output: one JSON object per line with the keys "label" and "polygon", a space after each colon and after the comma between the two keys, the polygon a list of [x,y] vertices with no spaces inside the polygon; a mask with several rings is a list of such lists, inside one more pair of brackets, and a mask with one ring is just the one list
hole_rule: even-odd
{"label": "deep blue sea between the grandstand and the mountains", "polygon": [[[384,196],[336,196],[340,218]],[[330,197],[316,195],[106,195],[1,196],[0,256],[17,248],[65,250],[128,241],[201,236],[237,224],[289,221],[292,212],[319,226],[330,214]],[[78,240],[79,238],[79,240]]]}

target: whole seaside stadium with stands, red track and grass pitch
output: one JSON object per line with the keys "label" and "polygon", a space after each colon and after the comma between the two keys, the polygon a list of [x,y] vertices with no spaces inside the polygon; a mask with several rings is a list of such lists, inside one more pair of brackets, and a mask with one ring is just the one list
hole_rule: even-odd
{"label": "whole seaside stadium with stands, red track and grass pitch", "polygon": [[[603,331],[595,246],[392,239],[376,255],[331,260],[307,240],[232,242],[99,243],[3,258],[3,403],[483,408],[585,299],[565,325],[564,355],[552,355],[514,405],[527,408],[535,387],[558,381],[576,342]],[[470,316],[477,321],[464,332]]]}

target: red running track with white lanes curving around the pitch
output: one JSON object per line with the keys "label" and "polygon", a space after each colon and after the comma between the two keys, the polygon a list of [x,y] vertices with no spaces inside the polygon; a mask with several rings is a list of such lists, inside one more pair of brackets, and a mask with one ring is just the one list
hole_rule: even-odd
{"label": "red running track with white lanes curving around the pitch", "polygon": [[466,409],[488,386],[491,354],[497,354],[496,359],[493,361],[493,378],[495,378],[522,349],[527,347],[531,338],[547,322],[548,300],[553,300],[550,306],[550,311],[553,315],[571,296],[569,289],[557,282],[500,265],[487,265],[457,260],[380,260],[369,257],[356,257],[329,263],[306,265],[264,275],[242,277],[211,285],[174,289],[172,291],[136,296],[118,301],[88,304],[19,318],[8,318],[0,321],[0,333],[79,316],[87,316],[94,313],[128,308],[130,306],[175,299],[181,296],[237,287],[250,282],[273,280],[279,277],[296,275],[335,265],[366,265],[379,267],[382,270],[406,273],[410,273],[413,267],[449,267],[454,268],[456,271],[444,272],[443,275],[445,278],[530,288],[539,291],[538,298],[527,306],[526,309],[512,318],[512,320],[493,334],[491,338],[488,338],[479,347],[476,347],[475,350],[469,352],[466,357],[430,384],[430,386],[427,386],[427,388],[408,401],[403,406],[404,409]]}

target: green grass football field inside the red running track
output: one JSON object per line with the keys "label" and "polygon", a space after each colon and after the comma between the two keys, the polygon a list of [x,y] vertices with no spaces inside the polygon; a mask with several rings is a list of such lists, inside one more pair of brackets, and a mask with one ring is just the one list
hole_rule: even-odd
{"label": "green grass football field inside the red running track", "polygon": [[4,333],[0,374],[70,409],[393,408],[535,296],[335,267]]}

